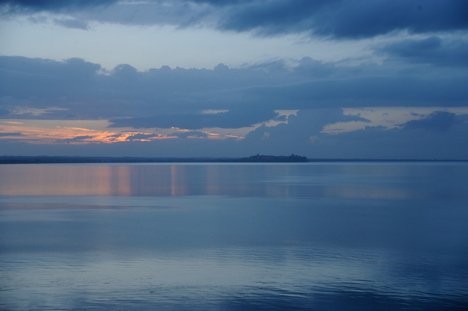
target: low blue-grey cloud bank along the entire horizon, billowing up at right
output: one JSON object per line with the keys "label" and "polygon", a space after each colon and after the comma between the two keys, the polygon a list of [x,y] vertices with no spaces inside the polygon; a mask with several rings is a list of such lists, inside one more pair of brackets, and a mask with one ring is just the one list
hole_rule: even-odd
{"label": "low blue-grey cloud bank along the entire horizon, billowing up at right", "polygon": [[31,145],[0,139],[0,150],[9,155],[245,157],[257,153],[294,153],[315,159],[467,159],[468,115],[455,116],[453,126],[443,131],[368,126],[337,135],[320,133],[323,124],[340,119],[347,120],[349,116],[344,116],[339,109],[300,110],[297,116],[290,116],[288,124],[262,126],[239,141],[234,138],[154,139],[112,144]]}

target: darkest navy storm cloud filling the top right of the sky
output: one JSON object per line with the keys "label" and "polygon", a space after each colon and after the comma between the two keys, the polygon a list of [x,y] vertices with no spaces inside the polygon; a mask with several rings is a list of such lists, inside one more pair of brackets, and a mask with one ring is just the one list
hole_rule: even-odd
{"label": "darkest navy storm cloud filling the top right of the sky", "polygon": [[413,33],[466,29],[466,1],[273,0],[233,8],[219,27],[265,33],[311,30],[322,36],[358,38],[408,29]]}

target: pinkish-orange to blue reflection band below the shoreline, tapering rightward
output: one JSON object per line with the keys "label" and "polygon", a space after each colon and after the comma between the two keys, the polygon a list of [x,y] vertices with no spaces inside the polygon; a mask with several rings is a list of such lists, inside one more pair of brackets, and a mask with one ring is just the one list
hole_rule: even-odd
{"label": "pinkish-orange to blue reflection band below the shoreline, tapering rightward", "polygon": [[[379,169],[379,167],[375,167]],[[422,194],[311,176],[287,181],[314,166],[300,165],[2,165],[0,195],[179,196],[409,199]]]}

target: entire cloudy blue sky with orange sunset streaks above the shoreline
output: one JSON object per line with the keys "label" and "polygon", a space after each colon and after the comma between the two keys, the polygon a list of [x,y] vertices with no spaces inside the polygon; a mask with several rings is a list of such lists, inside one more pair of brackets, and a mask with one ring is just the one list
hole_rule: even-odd
{"label": "entire cloudy blue sky with orange sunset streaks above the shoreline", "polygon": [[468,2],[0,0],[0,155],[468,159]]}

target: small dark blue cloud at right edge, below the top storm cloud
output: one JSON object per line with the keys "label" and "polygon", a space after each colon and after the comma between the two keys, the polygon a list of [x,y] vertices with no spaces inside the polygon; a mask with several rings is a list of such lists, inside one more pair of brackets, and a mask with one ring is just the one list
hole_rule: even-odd
{"label": "small dark blue cloud at right edge, below the top storm cloud", "polygon": [[391,43],[380,51],[412,63],[468,66],[468,42],[462,40],[442,40],[431,36],[422,40]]}

